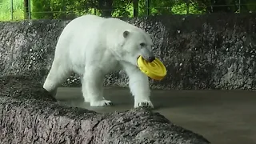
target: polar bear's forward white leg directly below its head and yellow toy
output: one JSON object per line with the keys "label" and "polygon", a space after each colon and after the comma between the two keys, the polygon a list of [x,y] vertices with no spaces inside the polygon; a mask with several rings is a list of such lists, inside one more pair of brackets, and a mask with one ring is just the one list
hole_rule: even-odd
{"label": "polar bear's forward white leg directly below its head and yellow toy", "polygon": [[134,108],[154,108],[150,101],[150,83],[146,74],[143,74],[136,66],[126,66],[125,69],[129,77],[130,92],[134,95]]}

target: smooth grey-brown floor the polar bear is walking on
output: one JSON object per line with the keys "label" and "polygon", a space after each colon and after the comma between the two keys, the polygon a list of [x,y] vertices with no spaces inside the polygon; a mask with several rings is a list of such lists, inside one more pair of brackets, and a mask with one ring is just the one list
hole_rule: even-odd
{"label": "smooth grey-brown floor the polar bear is walking on", "polygon": [[[99,113],[129,110],[133,97],[125,88],[106,88],[114,106],[90,107],[80,88],[59,88],[57,98],[69,106]],[[67,98],[76,98],[73,101]],[[178,126],[216,144],[256,144],[256,93],[245,90],[152,90],[155,110]]]}

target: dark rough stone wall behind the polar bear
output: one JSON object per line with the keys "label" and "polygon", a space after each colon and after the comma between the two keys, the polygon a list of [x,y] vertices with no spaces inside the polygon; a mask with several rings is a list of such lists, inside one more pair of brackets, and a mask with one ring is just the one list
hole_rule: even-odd
{"label": "dark rough stone wall behind the polar bear", "polygon": [[[158,89],[250,89],[254,79],[256,14],[172,15],[124,19],[146,30],[168,75]],[[54,46],[70,21],[0,22],[0,75],[27,74],[44,82]],[[80,86],[74,74],[63,86]],[[122,71],[105,86],[127,86]]]}

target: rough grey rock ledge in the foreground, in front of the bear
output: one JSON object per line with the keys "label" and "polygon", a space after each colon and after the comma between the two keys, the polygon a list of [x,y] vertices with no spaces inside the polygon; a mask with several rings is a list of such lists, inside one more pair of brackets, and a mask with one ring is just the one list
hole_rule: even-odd
{"label": "rough grey rock ledge in the foreground, in front of the bear", "polygon": [[33,78],[8,76],[0,77],[0,143],[210,142],[146,109],[98,114],[59,106]]}

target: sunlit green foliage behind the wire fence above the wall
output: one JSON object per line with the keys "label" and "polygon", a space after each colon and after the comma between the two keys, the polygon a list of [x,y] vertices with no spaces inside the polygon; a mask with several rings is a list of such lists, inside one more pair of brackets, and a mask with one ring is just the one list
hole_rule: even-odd
{"label": "sunlit green foliage behind the wire fence above the wall", "polygon": [[[11,19],[10,0],[0,0],[0,21],[24,19],[24,0],[13,0]],[[82,14],[96,14],[104,17],[138,17],[162,14],[205,14],[214,12],[239,12],[239,0],[30,0],[31,16],[40,18],[75,18]],[[149,2],[149,4],[147,4]],[[190,2],[190,3],[186,3]],[[255,0],[240,0],[241,13],[255,11]],[[219,6],[228,5],[228,6]]]}

